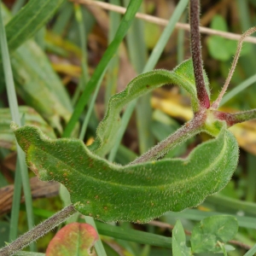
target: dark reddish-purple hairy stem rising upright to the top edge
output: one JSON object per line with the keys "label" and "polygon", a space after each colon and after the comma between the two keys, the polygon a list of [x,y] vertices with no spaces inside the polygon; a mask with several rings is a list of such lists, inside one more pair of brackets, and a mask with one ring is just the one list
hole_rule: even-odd
{"label": "dark reddish-purple hairy stem rising upright to the top edge", "polygon": [[199,32],[199,0],[190,0],[190,48],[193,60],[197,98],[202,108],[210,108],[209,96],[203,77],[201,39]]}

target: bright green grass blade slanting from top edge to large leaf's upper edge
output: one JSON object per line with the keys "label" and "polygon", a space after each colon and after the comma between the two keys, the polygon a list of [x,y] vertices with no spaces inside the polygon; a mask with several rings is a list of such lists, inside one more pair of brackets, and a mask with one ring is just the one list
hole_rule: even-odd
{"label": "bright green grass blade slanting from top edge to large leaf's upper edge", "polygon": [[93,90],[96,89],[96,86],[100,85],[97,83],[100,79],[102,79],[104,73],[106,72],[109,61],[112,59],[113,55],[115,54],[115,52],[119,47],[119,44],[125,37],[125,34],[128,31],[129,27],[131,26],[131,22],[134,19],[137,13],[137,9],[140,7],[141,3],[142,3],[142,0],[131,0],[131,3],[128,9],[125,12],[125,16],[121,20],[119,29],[115,34],[113,42],[109,44],[108,49],[106,50],[105,54],[102,56],[102,60],[96,67],[96,70],[93,73],[90,81],[88,82],[82,96],[80,96],[79,98],[79,102],[77,103],[77,106],[73,111],[73,115],[67,124],[67,127],[63,133],[63,137],[70,137],[71,132],[73,131],[73,128],[76,122],[78,121],[80,114],[83,112],[84,107],[87,104],[91,93],[93,92]]}

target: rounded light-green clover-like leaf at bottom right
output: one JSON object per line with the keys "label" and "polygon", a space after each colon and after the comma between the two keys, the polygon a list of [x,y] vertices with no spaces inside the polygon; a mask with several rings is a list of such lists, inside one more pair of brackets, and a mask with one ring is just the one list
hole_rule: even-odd
{"label": "rounded light-green clover-like leaf at bottom right", "polygon": [[236,236],[238,223],[235,217],[217,215],[204,218],[192,230],[191,247],[193,253],[220,252],[219,242],[230,241]]}

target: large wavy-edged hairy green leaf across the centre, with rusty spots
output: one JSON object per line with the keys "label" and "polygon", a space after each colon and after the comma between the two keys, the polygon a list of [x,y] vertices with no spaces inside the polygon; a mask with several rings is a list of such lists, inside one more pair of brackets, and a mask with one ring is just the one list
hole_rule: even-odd
{"label": "large wavy-edged hairy green leaf across the centre, with rusty spots", "polygon": [[230,181],[238,160],[236,138],[225,127],[187,159],[131,166],[109,163],[77,139],[51,140],[33,126],[12,128],[32,171],[62,183],[79,212],[105,222],[143,223],[195,207]]}

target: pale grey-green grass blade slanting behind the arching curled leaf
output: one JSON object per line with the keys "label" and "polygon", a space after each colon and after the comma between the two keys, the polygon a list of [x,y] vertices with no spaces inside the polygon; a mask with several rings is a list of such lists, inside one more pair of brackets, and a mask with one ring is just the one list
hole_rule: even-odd
{"label": "pale grey-green grass blade slanting behind the arching curled leaf", "polygon": [[[174,30],[174,27],[175,27],[177,21],[180,19],[181,15],[183,14],[184,9],[186,9],[188,3],[189,3],[189,0],[181,0],[177,4],[177,8],[174,10],[173,15],[172,15],[171,19],[169,20],[164,32],[162,33],[157,44],[155,45],[155,47],[148,59],[146,66],[143,68],[143,73],[146,73],[146,72],[152,70],[154,68],[154,66],[156,65],[157,61],[160,58],[160,55],[162,54],[163,50],[166,47],[167,41],[169,40],[169,38],[172,35],[172,32]],[[125,110],[124,116],[122,118],[122,125],[121,125],[119,133],[118,133],[117,141],[116,141],[115,145],[113,146],[113,149],[110,153],[111,160],[114,159],[114,156],[119,148],[119,143],[121,142],[121,139],[124,136],[126,127],[129,123],[129,120],[131,119],[131,114],[133,113],[133,110],[136,107],[136,103],[137,102],[130,103]]]}

